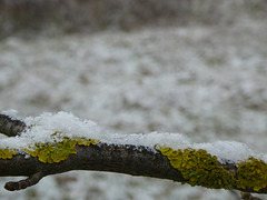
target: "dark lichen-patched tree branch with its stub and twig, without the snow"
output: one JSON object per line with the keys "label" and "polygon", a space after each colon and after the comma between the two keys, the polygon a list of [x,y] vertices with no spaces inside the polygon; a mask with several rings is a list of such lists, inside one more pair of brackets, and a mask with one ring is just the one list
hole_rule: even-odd
{"label": "dark lichen-patched tree branch with its stub and twig, without the snow", "polygon": [[[1,132],[14,136],[24,129],[23,122],[0,116]],[[29,154],[29,151],[21,150],[0,159],[0,177],[29,177],[18,182],[8,182],[4,188],[11,191],[20,190],[38,183],[46,176],[71,170],[95,170],[169,179],[215,189],[225,188],[244,192],[267,193],[266,163],[257,159],[249,160],[247,164],[235,163],[230,160],[220,163],[216,157],[210,156],[205,150],[172,150],[170,148],[160,149],[132,144],[92,143],[91,141],[88,143],[73,143],[72,141],[71,143],[68,140],[61,144],[41,146],[41,150],[44,148],[48,156],[53,153],[51,157],[55,157],[55,152],[56,156],[65,152],[57,148],[67,146],[69,152],[67,157],[63,157],[65,159],[56,158],[51,163],[48,163],[50,160],[40,159],[41,154]],[[256,180],[257,186],[251,184],[251,177],[247,176],[250,172],[256,177],[259,176]],[[260,176],[261,173],[264,176]],[[258,180],[263,184],[258,184]]]}

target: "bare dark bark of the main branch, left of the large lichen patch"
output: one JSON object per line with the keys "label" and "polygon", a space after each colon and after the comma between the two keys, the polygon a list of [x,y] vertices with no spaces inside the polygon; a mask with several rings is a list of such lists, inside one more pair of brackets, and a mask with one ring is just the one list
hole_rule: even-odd
{"label": "bare dark bark of the main branch, left of the large lichen patch", "polygon": [[[101,143],[76,146],[76,152],[77,154],[70,154],[67,160],[59,163],[43,163],[38,158],[26,159],[22,154],[17,154],[12,159],[0,159],[0,176],[31,177],[41,172],[44,177],[70,170],[96,170],[186,181],[181,173],[170,166],[165,156],[146,147]],[[6,184],[6,189],[23,188],[9,183]]]}

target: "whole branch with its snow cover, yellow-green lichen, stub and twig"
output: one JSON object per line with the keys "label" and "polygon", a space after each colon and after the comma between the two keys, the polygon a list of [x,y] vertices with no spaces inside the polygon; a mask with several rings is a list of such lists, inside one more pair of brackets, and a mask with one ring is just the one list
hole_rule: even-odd
{"label": "whole branch with its snow cover, yellow-green lichen, stub and twig", "polygon": [[[43,113],[20,121],[0,114],[0,177],[20,190],[46,176],[95,170],[170,179],[214,189],[267,193],[266,154],[239,142],[191,143],[178,133],[109,133],[70,113]],[[16,136],[16,137],[13,137]]]}

